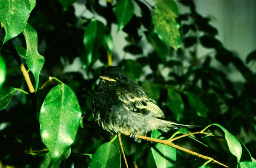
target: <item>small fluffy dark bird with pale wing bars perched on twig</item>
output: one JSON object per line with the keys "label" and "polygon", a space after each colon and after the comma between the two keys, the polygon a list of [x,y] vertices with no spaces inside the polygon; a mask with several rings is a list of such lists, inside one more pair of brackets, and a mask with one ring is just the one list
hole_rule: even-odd
{"label": "small fluffy dark bird with pale wing bars perched on twig", "polygon": [[155,129],[199,127],[159,119],[164,118],[163,111],[119,67],[106,67],[100,78],[92,94],[92,112],[95,121],[111,134],[135,137]]}

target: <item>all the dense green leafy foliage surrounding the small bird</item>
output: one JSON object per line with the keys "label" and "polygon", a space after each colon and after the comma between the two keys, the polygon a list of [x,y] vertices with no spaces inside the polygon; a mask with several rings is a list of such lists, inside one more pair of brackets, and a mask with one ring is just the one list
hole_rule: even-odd
{"label": "all the dense green leafy foliage surrounding the small bird", "polygon": [[[193,1],[178,2],[190,8],[183,15],[172,0],[154,6],[146,0],[83,1],[90,18],[76,16],[74,2],[0,0],[0,167],[115,168],[120,161],[124,167],[118,140],[110,142],[113,136],[95,124],[90,108],[101,70],[112,64],[138,81],[166,120],[223,126],[210,130],[225,138],[185,137],[176,144],[230,167],[255,167],[256,73],[248,64],[256,50],[246,62],[234,56]],[[113,25],[115,33],[127,33],[123,50],[132,57],[113,52]],[[199,44],[214,52],[199,57]],[[81,66],[76,71],[67,68],[73,62]],[[245,79],[236,89],[227,78],[230,64]],[[148,136],[168,139],[173,133]],[[122,141],[129,167],[222,167],[168,146],[127,136]]]}

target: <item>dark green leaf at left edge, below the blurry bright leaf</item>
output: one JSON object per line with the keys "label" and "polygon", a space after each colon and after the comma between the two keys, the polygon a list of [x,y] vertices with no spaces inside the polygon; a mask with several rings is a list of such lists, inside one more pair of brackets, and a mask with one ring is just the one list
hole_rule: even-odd
{"label": "dark green leaf at left edge, below the blurry bright leaf", "polygon": [[17,90],[12,87],[2,87],[0,89],[0,111],[10,103],[16,91]]}

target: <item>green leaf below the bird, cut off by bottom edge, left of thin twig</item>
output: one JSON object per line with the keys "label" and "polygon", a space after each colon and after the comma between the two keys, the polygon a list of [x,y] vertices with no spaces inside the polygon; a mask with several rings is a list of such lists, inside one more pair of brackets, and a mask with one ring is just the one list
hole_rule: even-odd
{"label": "green leaf below the bird, cut off by bottom edge, left of thin twig", "polygon": [[96,150],[89,163],[88,168],[120,168],[120,151],[115,143],[107,142]]}

